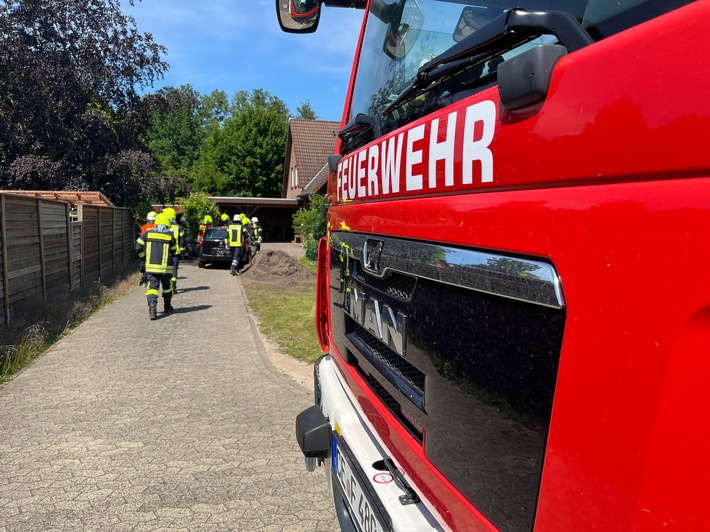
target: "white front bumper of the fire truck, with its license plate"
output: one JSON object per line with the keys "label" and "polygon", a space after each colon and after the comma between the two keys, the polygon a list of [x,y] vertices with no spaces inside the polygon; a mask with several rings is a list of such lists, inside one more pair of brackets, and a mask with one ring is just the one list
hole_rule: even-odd
{"label": "white front bumper of the fire truck, with its license plate", "polygon": [[[406,491],[383,467],[393,463],[354,402],[335,362],[315,366],[316,402],[296,418],[296,436],[309,470],[329,468],[331,493],[343,530],[444,530],[424,501],[404,502]],[[406,482],[406,481],[405,481]]]}

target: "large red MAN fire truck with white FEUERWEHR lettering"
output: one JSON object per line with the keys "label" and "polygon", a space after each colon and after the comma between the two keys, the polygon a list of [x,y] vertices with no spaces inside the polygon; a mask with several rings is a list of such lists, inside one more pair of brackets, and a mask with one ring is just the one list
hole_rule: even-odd
{"label": "large red MAN fire truck with white FEUERWEHR lettering", "polygon": [[710,530],[710,1],[276,0],[329,6],[296,433],[343,530]]}

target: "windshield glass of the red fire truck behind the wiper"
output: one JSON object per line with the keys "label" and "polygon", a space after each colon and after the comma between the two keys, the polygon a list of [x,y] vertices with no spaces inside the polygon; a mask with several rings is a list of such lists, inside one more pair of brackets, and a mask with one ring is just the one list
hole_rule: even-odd
{"label": "windshield glass of the red fire truck behind the wiper", "polygon": [[[507,10],[566,11],[593,40],[603,39],[688,0],[373,0],[367,15],[349,119],[364,114],[378,121],[382,133],[495,85],[498,65],[533,46],[553,44],[553,35],[462,64],[441,81],[401,103],[400,94],[419,69],[481,30]],[[499,19],[500,20],[500,19]],[[491,27],[493,27],[492,25]],[[394,105],[393,105],[394,104]],[[344,139],[347,153],[373,139],[372,131]]]}

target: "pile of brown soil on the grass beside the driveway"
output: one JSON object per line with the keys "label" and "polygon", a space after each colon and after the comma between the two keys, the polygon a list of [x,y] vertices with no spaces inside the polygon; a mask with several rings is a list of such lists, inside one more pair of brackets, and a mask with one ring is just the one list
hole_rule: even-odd
{"label": "pile of brown soil on the grass beside the driveway", "polygon": [[295,258],[279,250],[261,250],[243,270],[243,282],[269,283],[284,289],[298,290],[315,281],[315,272]]}

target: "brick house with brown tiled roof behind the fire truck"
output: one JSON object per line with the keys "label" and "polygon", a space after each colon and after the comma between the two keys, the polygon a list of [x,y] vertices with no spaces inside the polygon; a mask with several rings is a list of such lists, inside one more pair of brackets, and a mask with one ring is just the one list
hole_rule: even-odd
{"label": "brick house with brown tiled roof behind the fire truck", "polygon": [[340,122],[291,119],[284,161],[284,198],[303,198],[323,192],[328,180],[328,157],[335,152]]}

